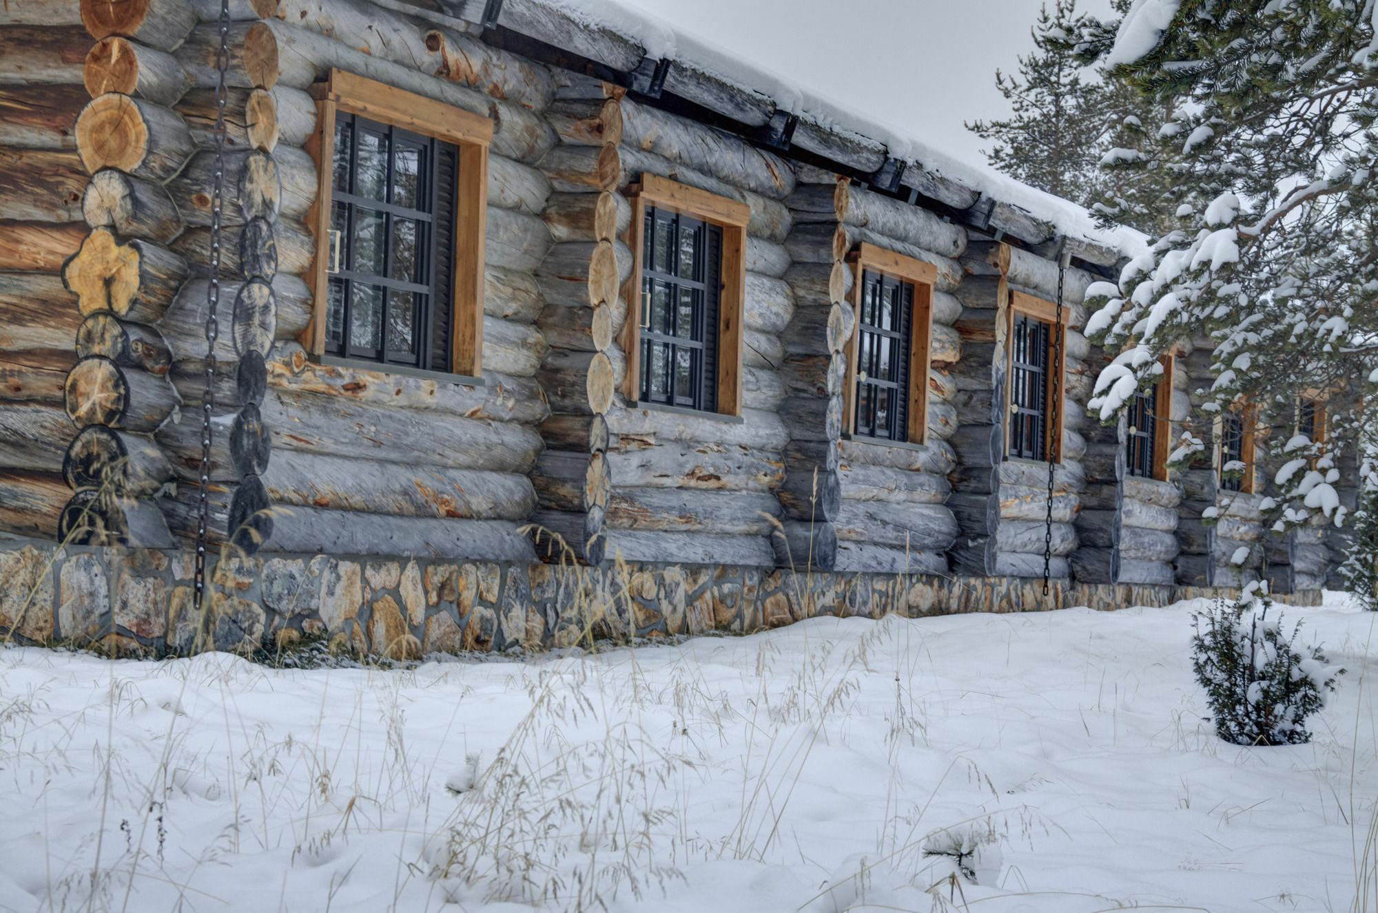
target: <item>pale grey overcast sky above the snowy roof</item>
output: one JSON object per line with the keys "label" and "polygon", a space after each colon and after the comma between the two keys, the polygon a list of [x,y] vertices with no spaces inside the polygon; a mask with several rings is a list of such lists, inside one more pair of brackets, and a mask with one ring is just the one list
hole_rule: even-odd
{"label": "pale grey overcast sky above the snowy roof", "polygon": [[[1040,0],[623,0],[810,85],[955,157],[985,145],[962,123],[1009,103],[995,67],[1034,50]],[[1109,0],[1079,0],[1107,18]]]}

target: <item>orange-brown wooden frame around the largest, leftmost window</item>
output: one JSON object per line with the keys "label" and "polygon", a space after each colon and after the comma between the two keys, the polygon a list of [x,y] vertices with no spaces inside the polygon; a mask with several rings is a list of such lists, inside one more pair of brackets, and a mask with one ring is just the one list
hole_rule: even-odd
{"label": "orange-brown wooden frame around the largest, leftmost window", "polygon": [[[316,237],[316,259],[307,273],[311,322],[302,333],[302,344],[317,358],[325,354],[335,114],[340,112],[431,136],[459,149],[451,306],[455,329],[451,336],[449,373],[462,377],[482,376],[488,146],[493,138],[493,123],[444,102],[336,69],[329,72],[324,83],[311,84],[309,92],[316,99],[316,132],[306,142],[306,151],[316,162],[318,186],[316,202],[307,213],[307,227]],[[397,368],[384,362],[369,366],[384,373]]]}

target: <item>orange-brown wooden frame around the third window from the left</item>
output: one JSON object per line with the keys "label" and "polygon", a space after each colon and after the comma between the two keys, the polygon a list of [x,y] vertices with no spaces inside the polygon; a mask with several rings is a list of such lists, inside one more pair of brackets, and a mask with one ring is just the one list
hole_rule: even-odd
{"label": "orange-brown wooden frame around the third window from the left", "polygon": [[857,435],[856,388],[857,350],[861,340],[863,275],[870,270],[914,286],[914,313],[909,315],[909,390],[904,443],[929,442],[929,351],[933,348],[933,286],[938,270],[932,263],[904,256],[863,241],[847,255],[852,263],[852,336],[846,344],[847,383],[843,388],[843,427],[847,437],[863,443],[892,445],[896,441]]}

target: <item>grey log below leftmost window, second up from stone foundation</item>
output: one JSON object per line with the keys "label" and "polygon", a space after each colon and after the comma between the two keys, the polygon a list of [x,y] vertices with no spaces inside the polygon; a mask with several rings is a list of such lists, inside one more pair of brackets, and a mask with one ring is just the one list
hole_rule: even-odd
{"label": "grey log below leftmost window, second up from stone foundation", "polygon": [[522,521],[536,505],[525,475],[325,453],[280,450],[262,479],[273,504],[390,516]]}

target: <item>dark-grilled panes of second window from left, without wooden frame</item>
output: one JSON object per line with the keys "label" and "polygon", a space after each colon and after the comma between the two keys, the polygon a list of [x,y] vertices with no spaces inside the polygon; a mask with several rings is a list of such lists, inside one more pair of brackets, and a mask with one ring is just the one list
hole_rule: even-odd
{"label": "dark-grilled panes of second window from left, without wooden frame", "polygon": [[644,231],[639,397],[712,412],[718,406],[722,229],[646,207]]}

